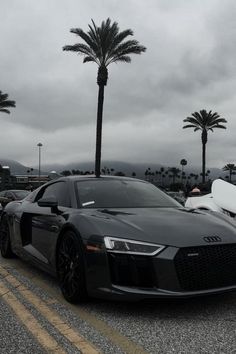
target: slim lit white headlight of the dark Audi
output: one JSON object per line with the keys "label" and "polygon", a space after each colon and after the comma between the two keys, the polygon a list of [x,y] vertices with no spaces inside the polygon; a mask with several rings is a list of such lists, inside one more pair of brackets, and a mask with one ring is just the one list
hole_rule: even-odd
{"label": "slim lit white headlight of the dark Audi", "polygon": [[154,243],[128,240],[125,238],[104,237],[108,252],[154,256],[161,252],[165,246]]}

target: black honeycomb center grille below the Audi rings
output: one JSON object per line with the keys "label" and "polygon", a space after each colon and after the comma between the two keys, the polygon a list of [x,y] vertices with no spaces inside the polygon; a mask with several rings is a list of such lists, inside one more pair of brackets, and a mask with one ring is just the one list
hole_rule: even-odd
{"label": "black honeycomb center grille below the Audi rings", "polygon": [[174,263],[183,290],[236,285],[236,244],[181,248]]}

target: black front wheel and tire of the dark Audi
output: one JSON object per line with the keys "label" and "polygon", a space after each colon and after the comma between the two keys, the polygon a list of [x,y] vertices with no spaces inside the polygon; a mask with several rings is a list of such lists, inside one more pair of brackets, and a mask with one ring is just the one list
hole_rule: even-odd
{"label": "black front wheel and tire of the dark Audi", "polygon": [[82,243],[73,231],[67,231],[60,241],[57,274],[62,294],[68,302],[88,299]]}

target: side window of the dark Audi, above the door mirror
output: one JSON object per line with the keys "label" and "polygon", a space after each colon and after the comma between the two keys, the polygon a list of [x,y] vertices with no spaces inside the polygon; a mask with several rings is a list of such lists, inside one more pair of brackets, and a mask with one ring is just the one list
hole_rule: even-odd
{"label": "side window of the dark Audi, above the door mirror", "polygon": [[40,198],[56,197],[59,206],[70,207],[70,197],[66,182],[56,182],[50,184],[45,189],[40,190],[36,201]]}

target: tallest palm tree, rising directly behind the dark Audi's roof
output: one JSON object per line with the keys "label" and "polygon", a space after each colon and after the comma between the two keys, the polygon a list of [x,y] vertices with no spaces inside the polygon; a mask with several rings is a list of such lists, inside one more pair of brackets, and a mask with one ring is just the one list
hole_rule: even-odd
{"label": "tallest palm tree, rising directly behind the dark Audi's roof", "polygon": [[108,80],[108,65],[111,63],[130,63],[130,54],[141,54],[146,48],[136,40],[124,41],[128,36],[133,35],[131,29],[119,32],[117,22],[111,23],[108,18],[98,27],[92,20],[89,31],[86,33],[81,28],[72,28],[70,32],[79,36],[84,43],[66,45],[63,50],[73,51],[84,55],[84,63],[94,62],[98,65],[97,84],[98,105],[97,105],[97,130],[96,130],[96,155],[95,175],[100,176],[101,168],[101,146],[102,146],[102,116],[104,88]]}

